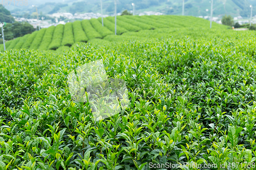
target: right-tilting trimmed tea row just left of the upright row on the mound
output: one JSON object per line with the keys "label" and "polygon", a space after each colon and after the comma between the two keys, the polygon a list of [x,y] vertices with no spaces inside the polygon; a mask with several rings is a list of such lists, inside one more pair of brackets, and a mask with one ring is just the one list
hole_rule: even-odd
{"label": "right-tilting trimmed tea row just left of the upright row on the mound", "polygon": [[56,26],[53,32],[52,42],[48,47],[49,50],[56,50],[58,47],[60,47],[62,37],[63,37],[63,31],[64,31],[64,25],[59,24]]}

